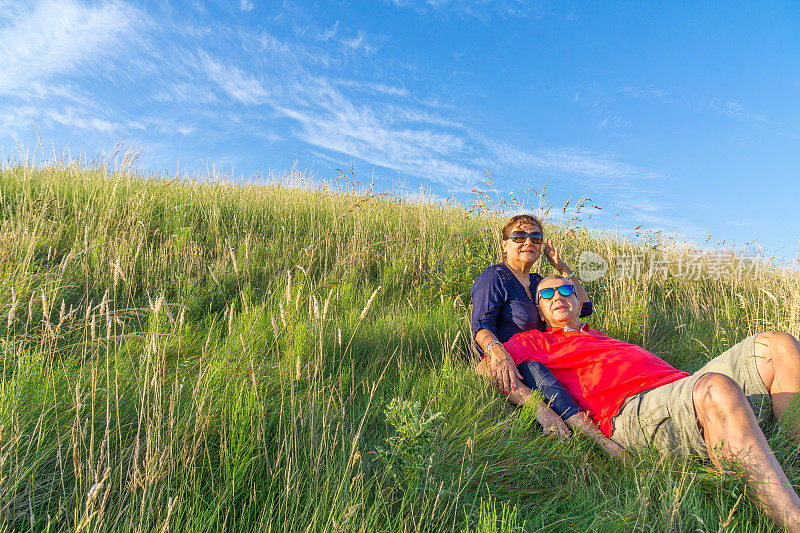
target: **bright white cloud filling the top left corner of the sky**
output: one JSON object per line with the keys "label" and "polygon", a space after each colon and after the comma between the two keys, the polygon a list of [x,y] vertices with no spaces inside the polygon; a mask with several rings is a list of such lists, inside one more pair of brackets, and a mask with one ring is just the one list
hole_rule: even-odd
{"label": "bright white cloud filling the top left corner of the sky", "polygon": [[134,37],[146,17],[121,2],[84,5],[74,0],[11,4],[0,29],[0,94],[71,72],[113,54]]}

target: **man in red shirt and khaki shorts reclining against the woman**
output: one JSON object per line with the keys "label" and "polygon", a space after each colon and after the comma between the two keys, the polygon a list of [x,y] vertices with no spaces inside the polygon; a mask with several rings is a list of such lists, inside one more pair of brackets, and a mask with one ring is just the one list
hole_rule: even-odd
{"label": "man in red shirt and khaki shorts reclining against the woman", "polygon": [[[527,331],[505,348],[517,365],[544,363],[600,430],[628,449],[710,457],[741,465],[764,510],[800,532],[800,498],[759,427],[777,418],[800,390],[800,345],[786,333],[754,335],[692,375],[644,348],[581,324],[569,281],[539,283],[547,332]],[[796,436],[800,427],[795,425]]]}

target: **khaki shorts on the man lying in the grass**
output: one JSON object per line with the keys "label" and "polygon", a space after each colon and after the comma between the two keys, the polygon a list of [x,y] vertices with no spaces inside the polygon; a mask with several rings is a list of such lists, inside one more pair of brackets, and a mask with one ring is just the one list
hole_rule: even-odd
{"label": "khaki shorts on the man lying in the grass", "polygon": [[708,458],[697,425],[692,391],[703,374],[716,372],[733,378],[744,390],[763,428],[772,418],[769,391],[755,361],[755,338],[748,337],[683,379],[631,396],[613,417],[611,439],[628,449],[654,446],[662,454]]}

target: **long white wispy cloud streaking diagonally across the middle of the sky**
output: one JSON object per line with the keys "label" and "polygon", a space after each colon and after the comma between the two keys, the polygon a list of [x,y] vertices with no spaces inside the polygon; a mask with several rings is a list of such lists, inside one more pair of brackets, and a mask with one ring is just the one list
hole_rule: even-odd
{"label": "long white wispy cloud streaking diagonally across the middle of the sky", "polygon": [[[252,37],[242,36],[245,40]],[[311,74],[309,45],[289,43],[270,33],[257,38],[267,64],[244,66],[199,54],[205,75],[227,98],[271,109],[288,120],[294,137],[318,153],[327,151],[443,184],[469,190],[483,179],[483,168],[536,169],[592,181],[605,189],[624,189],[631,180],[655,175],[614,154],[579,149],[541,149],[534,153],[483,138],[463,122],[432,112],[405,87]],[[360,46],[360,45],[356,45]],[[279,66],[279,67],[276,67]]]}

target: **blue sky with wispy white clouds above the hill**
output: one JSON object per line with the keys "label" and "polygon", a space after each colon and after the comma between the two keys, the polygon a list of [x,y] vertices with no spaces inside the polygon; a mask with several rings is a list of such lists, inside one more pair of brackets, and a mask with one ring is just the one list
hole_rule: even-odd
{"label": "blue sky with wispy white clouds above the hill", "polygon": [[125,134],[144,170],[352,165],[465,204],[488,170],[500,194],[590,197],[593,227],[791,260],[799,6],[0,0],[0,150],[30,155],[35,122],[48,156]]}

